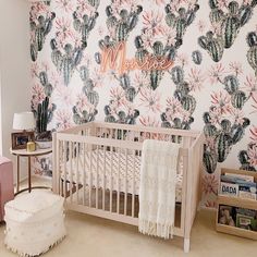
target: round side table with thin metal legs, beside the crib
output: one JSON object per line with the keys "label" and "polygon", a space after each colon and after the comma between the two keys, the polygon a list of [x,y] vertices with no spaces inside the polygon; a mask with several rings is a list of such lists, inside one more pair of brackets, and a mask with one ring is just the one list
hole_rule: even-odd
{"label": "round side table with thin metal legs, beside the crib", "polygon": [[[38,156],[45,156],[48,154],[52,152],[52,148],[47,148],[47,149],[36,149],[35,151],[27,151],[26,149],[19,149],[19,150],[13,150],[10,149],[11,154],[16,156],[17,160],[17,182],[16,182],[16,193],[15,195],[28,191],[29,193],[32,192],[33,188],[49,188],[46,186],[34,186],[32,187],[32,157],[38,157]],[[20,191],[20,157],[27,157],[28,159],[28,187]]]}

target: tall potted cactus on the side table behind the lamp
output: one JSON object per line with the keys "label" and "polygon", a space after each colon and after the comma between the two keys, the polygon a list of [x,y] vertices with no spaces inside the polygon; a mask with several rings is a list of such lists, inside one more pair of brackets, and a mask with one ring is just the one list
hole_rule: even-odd
{"label": "tall potted cactus on the side table behind the lamp", "polygon": [[38,148],[49,148],[52,146],[51,131],[47,131],[49,121],[49,98],[46,97],[42,102],[38,103],[37,111],[34,112],[36,117],[36,145]]}

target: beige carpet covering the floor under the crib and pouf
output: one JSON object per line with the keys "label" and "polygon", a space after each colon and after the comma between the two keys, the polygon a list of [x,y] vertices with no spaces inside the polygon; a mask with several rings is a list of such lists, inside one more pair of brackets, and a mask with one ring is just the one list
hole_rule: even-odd
{"label": "beige carpet covering the floor under the crib and pouf", "polygon": [[[183,240],[162,241],[142,235],[137,228],[90,217],[66,212],[66,238],[46,257],[254,257],[257,242],[217,233],[215,212],[201,210],[192,231],[191,253],[183,253]],[[3,245],[4,224],[0,224],[0,257],[16,256]]]}

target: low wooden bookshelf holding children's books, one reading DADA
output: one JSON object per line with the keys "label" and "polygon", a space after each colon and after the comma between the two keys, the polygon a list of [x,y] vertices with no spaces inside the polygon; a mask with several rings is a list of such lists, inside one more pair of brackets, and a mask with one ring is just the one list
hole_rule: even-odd
{"label": "low wooden bookshelf holding children's books, one reading DADA", "polygon": [[257,240],[257,172],[221,169],[216,229]]}

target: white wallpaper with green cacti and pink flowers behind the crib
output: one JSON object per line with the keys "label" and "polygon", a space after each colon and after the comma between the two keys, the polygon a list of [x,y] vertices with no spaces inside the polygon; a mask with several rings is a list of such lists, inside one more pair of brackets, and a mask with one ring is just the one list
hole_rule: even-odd
{"label": "white wallpaper with green cacti and pink flowers behind the crib", "polygon": [[[51,0],[30,8],[32,110],[58,131],[100,120],[200,130],[203,206],[220,167],[257,171],[257,0]],[[101,72],[102,50],[168,70]],[[51,175],[50,157],[35,173]]]}

